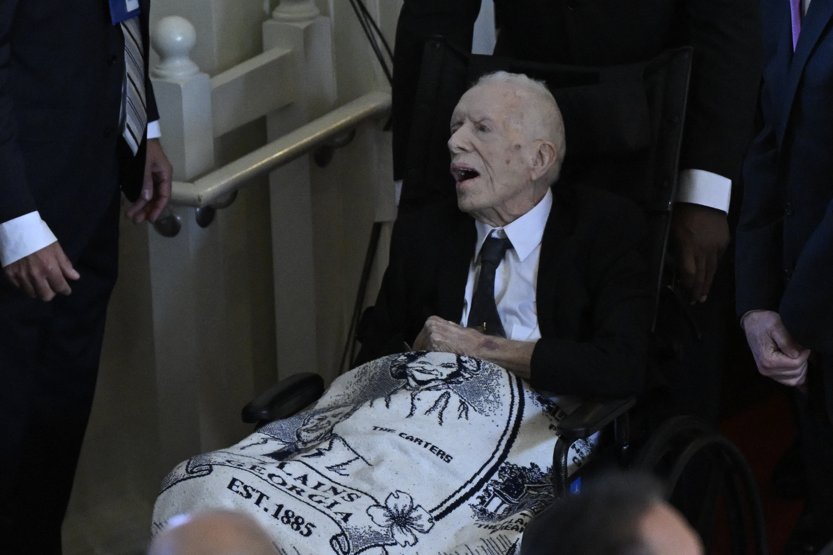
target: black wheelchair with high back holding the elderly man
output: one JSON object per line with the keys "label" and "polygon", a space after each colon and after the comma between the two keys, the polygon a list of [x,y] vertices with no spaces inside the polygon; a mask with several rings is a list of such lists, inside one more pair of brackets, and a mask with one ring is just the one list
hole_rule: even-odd
{"label": "black wheelchair with high back holding the elderly man", "polygon": [[[651,374],[661,374],[663,361],[673,356],[669,338],[657,324],[656,307],[665,300],[686,310],[674,292],[666,247],[691,58],[691,48],[683,47],[644,63],[572,67],[470,55],[442,37],[431,38],[423,51],[400,201],[402,213],[455,194],[448,171],[448,122],[456,102],[477,77],[505,70],[546,82],[561,107],[566,130],[561,180],[590,181],[630,198],[645,212],[649,225],[646,258],[655,298],[652,341],[656,355],[649,369],[649,391]],[[295,374],[247,404],[242,419],[258,426],[285,419],[312,404],[323,391],[321,376]],[[722,507],[731,553],[766,555],[761,499],[740,450],[695,417],[653,420],[651,394],[640,399],[586,399],[558,426],[551,478],[556,497],[576,493],[582,480],[591,480],[606,469],[651,472],[661,478],[667,498],[700,534],[707,553],[716,551],[712,545],[715,515]],[[571,445],[597,433],[591,462],[568,476]],[[696,503],[690,499],[692,489],[696,489]]]}

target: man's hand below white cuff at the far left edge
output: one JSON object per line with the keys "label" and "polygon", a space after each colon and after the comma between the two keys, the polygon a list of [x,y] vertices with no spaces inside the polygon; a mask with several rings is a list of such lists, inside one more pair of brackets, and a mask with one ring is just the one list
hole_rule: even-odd
{"label": "man's hand below white cuff at the far left edge", "polygon": [[26,291],[32,298],[52,300],[55,295],[69,295],[72,289],[67,280],[81,277],[64,254],[57,241],[36,250],[31,255],[15,260],[3,268],[12,285]]}

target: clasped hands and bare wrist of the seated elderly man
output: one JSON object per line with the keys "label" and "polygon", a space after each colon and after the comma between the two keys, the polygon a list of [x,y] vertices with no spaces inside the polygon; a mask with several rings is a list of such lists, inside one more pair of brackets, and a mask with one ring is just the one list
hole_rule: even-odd
{"label": "clasped hands and bare wrist of the seated elderly man", "polygon": [[416,336],[413,349],[465,354],[488,360],[523,379],[529,379],[535,342],[484,335],[472,328],[442,320],[439,316],[431,316]]}

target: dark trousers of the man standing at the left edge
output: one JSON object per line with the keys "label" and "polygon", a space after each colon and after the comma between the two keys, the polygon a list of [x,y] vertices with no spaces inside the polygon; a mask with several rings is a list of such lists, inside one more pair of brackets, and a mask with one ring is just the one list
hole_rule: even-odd
{"label": "dark trousers of the man standing at the left edge", "polygon": [[[0,553],[59,555],[117,277],[119,198],[72,260],[72,295],[0,278]],[[69,242],[69,241],[67,241]]]}

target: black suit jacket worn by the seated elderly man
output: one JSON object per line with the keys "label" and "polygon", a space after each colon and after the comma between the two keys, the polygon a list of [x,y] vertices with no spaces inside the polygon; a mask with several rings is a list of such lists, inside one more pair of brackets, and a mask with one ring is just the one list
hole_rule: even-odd
{"label": "black suit jacket worn by the seated elderly man", "polygon": [[[641,211],[590,187],[559,183],[553,193],[536,281],[541,339],[531,384],[556,394],[635,394],[651,315]],[[475,243],[475,221],[456,204],[397,219],[357,364],[402,352],[431,315],[460,321]]]}

